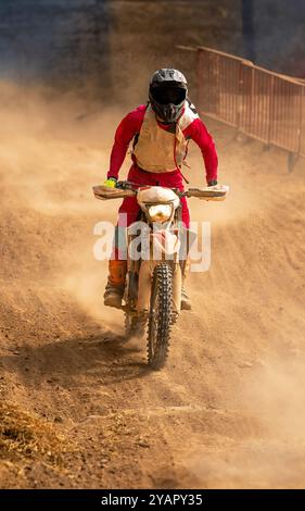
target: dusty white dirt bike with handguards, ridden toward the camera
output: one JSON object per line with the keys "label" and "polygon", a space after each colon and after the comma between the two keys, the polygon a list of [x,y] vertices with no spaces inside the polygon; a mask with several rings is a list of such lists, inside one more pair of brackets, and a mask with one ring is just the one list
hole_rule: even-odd
{"label": "dusty white dirt bike with handguards, ridden toward the camera", "polygon": [[[93,187],[98,199],[136,196],[140,205],[139,222],[127,229],[127,277],[122,310],[128,337],[143,336],[148,326],[148,362],[153,370],[165,364],[170,328],[180,313],[182,277],[189,250],[188,232],[181,228],[180,198],[224,200],[227,191],[228,187],[221,185],[180,191],[130,182],[117,182],[115,188]],[[139,242],[140,226],[145,228]]]}

